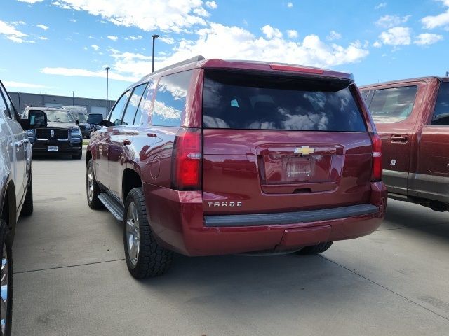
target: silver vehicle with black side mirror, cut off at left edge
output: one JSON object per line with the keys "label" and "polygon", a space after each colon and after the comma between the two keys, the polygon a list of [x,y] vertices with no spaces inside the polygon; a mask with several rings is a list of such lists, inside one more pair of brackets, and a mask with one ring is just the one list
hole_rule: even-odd
{"label": "silver vehicle with black side mirror, cut off at left edge", "polygon": [[24,129],[45,127],[41,111],[21,120],[0,81],[0,255],[1,335],[11,335],[13,309],[12,250],[18,217],[33,212],[32,145]]}

